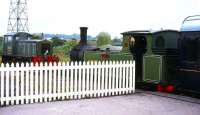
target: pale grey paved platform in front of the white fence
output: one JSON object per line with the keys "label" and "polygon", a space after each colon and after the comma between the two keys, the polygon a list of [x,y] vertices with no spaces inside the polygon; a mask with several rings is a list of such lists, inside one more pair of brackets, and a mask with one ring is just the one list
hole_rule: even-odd
{"label": "pale grey paved platform in front of the white fence", "polygon": [[0,115],[200,115],[200,104],[196,102],[200,99],[183,101],[137,92],[106,98],[1,107]]}

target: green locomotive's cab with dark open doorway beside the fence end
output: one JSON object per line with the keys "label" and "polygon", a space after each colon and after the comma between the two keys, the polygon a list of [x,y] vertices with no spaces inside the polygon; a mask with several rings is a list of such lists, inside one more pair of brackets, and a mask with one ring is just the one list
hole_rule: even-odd
{"label": "green locomotive's cab with dark open doorway beside the fence end", "polygon": [[[143,56],[151,53],[150,31],[128,31],[123,35],[123,51],[131,52],[135,60],[136,82],[142,82]],[[150,40],[150,41],[149,41]]]}

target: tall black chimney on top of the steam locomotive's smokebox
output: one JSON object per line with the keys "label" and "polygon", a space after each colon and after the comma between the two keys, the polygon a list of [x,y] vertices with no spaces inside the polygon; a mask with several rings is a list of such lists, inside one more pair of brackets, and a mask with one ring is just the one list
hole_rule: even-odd
{"label": "tall black chimney on top of the steam locomotive's smokebox", "polygon": [[80,36],[81,40],[79,42],[80,45],[86,45],[87,44],[87,27],[80,27]]}

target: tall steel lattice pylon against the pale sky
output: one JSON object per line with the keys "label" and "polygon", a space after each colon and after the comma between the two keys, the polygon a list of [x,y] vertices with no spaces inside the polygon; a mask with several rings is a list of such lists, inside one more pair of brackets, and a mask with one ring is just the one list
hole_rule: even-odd
{"label": "tall steel lattice pylon against the pale sky", "polygon": [[29,32],[27,0],[10,0],[7,32]]}

